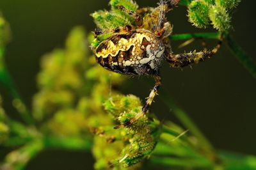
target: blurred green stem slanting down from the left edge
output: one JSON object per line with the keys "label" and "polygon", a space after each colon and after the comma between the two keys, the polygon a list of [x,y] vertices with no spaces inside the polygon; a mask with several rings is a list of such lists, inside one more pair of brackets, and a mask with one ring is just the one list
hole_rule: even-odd
{"label": "blurred green stem slanting down from the left edge", "polygon": [[26,107],[25,103],[23,102],[22,98],[17,91],[15,84],[12,81],[12,77],[8,72],[6,65],[4,63],[4,47],[0,47],[0,82],[3,86],[10,92],[13,98],[13,106],[20,112],[20,116],[22,120],[24,120],[28,125],[33,124],[33,118],[28,112],[28,107]]}

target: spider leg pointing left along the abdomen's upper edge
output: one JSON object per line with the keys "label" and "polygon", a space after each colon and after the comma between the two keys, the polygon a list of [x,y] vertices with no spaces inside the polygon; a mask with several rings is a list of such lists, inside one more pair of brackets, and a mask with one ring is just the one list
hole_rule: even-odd
{"label": "spider leg pointing left along the abdomen's upper edge", "polygon": [[96,28],[94,30],[94,37],[97,38],[99,35],[106,35],[109,33],[127,33],[134,29],[132,26],[116,27],[115,29],[100,29]]}

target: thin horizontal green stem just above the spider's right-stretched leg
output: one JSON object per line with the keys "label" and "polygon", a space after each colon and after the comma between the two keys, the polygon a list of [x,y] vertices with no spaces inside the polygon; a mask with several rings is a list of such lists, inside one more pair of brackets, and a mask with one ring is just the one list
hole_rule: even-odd
{"label": "thin horizontal green stem just above the spider's right-stretched leg", "polygon": [[193,33],[193,34],[179,34],[170,36],[171,40],[186,40],[191,38],[208,38],[208,39],[219,39],[220,33]]}

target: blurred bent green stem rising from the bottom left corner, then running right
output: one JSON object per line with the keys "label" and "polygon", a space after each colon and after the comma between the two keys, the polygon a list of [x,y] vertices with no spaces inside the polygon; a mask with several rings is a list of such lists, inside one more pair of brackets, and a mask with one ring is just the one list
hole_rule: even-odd
{"label": "blurred bent green stem rising from the bottom left corner, then running right", "polygon": [[0,169],[2,167],[10,167],[13,170],[25,169],[31,159],[36,157],[42,150],[48,148],[90,151],[92,141],[83,137],[40,137],[38,135],[31,142],[6,155],[3,165],[0,165]]}

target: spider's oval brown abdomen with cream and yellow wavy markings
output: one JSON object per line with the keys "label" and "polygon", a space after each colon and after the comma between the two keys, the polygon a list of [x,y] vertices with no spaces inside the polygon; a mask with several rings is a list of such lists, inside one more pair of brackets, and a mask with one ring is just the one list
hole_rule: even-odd
{"label": "spider's oval brown abdomen with cream and yellow wavy markings", "polygon": [[95,50],[95,58],[104,68],[133,75],[157,73],[163,55],[163,42],[145,29],[116,33]]}

